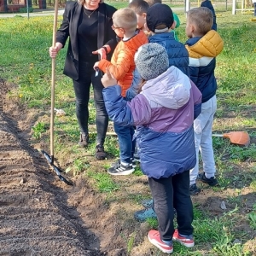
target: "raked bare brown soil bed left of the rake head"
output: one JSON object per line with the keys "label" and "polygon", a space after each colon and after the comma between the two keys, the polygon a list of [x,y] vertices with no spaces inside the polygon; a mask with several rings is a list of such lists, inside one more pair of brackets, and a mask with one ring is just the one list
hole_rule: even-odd
{"label": "raked bare brown soil bed left of the rake head", "polygon": [[4,112],[6,92],[0,79],[0,255],[102,255],[55,173]]}

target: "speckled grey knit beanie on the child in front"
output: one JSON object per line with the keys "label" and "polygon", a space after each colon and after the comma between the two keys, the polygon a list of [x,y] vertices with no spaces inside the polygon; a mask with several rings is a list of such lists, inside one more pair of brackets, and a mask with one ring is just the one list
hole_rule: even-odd
{"label": "speckled grey knit beanie on the child in front", "polygon": [[155,79],[169,67],[166,49],[160,44],[143,44],[134,56],[138,73],[145,80]]}

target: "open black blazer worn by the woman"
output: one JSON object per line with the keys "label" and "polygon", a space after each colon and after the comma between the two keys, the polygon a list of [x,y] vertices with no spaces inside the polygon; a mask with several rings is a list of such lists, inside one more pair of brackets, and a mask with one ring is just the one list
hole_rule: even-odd
{"label": "open black blazer worn by the woman", "polygon": [[[83,6],[77,2],[68,1],[66,3],[63,14],[61,27],[56,33],[56,42],[66,44],[69,37],[67,57],[65,61],[64,71],[68,77],[74,80],[79,79],[79,43],[78,43],[78,24]],[[104,44],[111,47],[111,53],[117,44],[115,32],[111,29],[113,25],[112,16],[116,9],[106,3],[100,3],[98,11],[98,36],[97,49],[100,49]],[[110,60],[111,55],[108,55]]]}

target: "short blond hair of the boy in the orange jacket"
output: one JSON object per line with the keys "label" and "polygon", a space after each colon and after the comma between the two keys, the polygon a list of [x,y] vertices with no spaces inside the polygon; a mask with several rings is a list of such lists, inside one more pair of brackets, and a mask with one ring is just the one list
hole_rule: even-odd
{"label": "short blond hair of the boy in the orange jacket", "polygon": [[137,15],[133,9],[122,8],[113,13],[114,26],[125,29],[126,32],[133,32],[137,28]]}

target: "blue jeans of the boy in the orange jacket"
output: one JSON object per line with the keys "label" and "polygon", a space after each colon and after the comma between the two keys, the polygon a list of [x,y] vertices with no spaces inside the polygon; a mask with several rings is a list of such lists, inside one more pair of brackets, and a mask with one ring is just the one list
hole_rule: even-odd
{"label": "blue jeans of the boy in the orange jacket", "polygon": [[115,133],[119,138],[119,157],[122,162],[131,163],[134,154],[135,142],[132,140],[134,134],[133,126],[120,126],[113,123]]}

